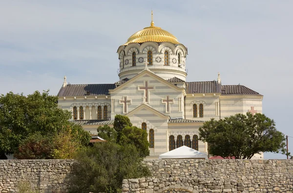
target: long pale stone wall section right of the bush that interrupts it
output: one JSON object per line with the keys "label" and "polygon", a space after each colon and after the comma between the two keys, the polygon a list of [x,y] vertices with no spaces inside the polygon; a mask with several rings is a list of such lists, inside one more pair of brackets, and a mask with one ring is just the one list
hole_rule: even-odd
{"label": "long pale stone wall section right of the bush that interrupts it", "polygon": [[178,159],[146,164],[152,177],[124,180],[123,193],[293,193],[293,160]]}

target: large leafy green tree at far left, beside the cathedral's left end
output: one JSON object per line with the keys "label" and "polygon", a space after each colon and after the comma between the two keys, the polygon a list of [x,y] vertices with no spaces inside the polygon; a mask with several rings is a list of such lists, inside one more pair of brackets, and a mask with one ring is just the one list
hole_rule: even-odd
{"label": "large leafy green tree at far left, beside the cathedral's left end", "polygon": [[58,108],[58,97],[50,96],[48,91],[24,96],[12,92],[0,95],[0,155],[13,154],[21,141],[29,135],[58,134],[70,130],[72,135],[87,144],[88,132],[68,121],[69,111]]}

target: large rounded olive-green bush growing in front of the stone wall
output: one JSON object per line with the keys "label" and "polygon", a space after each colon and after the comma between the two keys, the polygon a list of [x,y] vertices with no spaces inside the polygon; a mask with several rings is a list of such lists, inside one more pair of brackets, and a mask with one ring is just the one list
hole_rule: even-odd
{"label": "large rounded olive-green bush growing in front of the stone wall", "polygon": [[134,145],[96,143],[80,152],[73,165],[72,193],[120,193],[123,179],[149,176]]}

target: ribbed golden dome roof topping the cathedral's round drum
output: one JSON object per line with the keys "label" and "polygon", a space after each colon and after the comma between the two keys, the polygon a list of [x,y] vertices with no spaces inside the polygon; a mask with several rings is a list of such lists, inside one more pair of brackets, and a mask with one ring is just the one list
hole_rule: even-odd
{"label": "ribbed golden dome roof topping the cathedral's round drum", "polygon": [[154,42],[171,42],[173,44],[179,44],[179,41],[175,36],[167,32],[166,30],[163,30],[160,27],[154,26],[154,22],[151,21],[150,26],[144,28],[141,31],[136,32],[130,38],[128,38],[127,42],[124,45],[127,45],[128,43],[143,43],[146,41],[154,41]]}

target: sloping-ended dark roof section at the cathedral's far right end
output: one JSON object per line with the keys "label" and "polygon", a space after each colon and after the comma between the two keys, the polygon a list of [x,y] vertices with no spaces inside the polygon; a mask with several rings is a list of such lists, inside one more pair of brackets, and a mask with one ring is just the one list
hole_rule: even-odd
{"label": "sloping-ended dark roof section at the cathedral's far right end", "polygon": [[222,85],[222,95],[259,95],[243,85]]}

